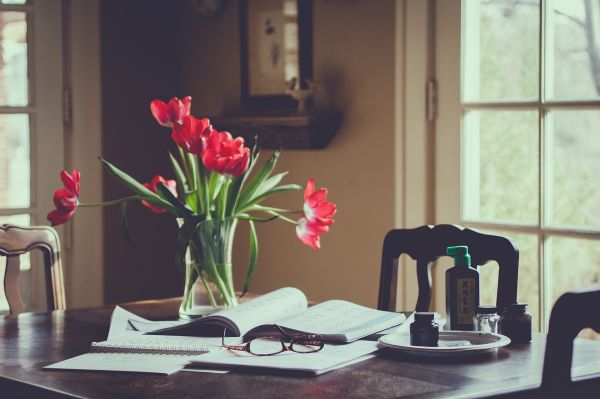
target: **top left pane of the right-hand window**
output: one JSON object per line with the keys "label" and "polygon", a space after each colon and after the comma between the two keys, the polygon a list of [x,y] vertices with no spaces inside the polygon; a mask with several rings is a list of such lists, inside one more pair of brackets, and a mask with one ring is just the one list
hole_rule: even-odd
{"label": "top left pane of the right-hand window", "polygon": [[463,4],[465,100],[538,98],[539,2],[470,0]]}

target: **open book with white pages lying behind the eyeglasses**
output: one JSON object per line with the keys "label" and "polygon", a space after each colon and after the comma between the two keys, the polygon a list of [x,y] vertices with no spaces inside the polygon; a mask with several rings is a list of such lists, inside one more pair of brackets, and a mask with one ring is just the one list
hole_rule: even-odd
{"label": "open book with white pages lying behind the eyeglasses", "polygon": [[273,335],[273,324],[290,334],[320,334],[327,342],[351,342],[387,328],[402,324],[402,313],[385,312],[348,301],[331,300],[308,307],[308,301],[297,288],[281,288],[240,305],[188,323],[159,329],[150,324],[130,321],[147,334],[229,336],[245,339]]}

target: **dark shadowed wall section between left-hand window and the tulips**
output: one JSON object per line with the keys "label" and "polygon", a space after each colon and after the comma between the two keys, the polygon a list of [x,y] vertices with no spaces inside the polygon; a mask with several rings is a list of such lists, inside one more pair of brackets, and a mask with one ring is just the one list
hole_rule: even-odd
{"label": "dark shadowed wall section between left-hand window and the tulips", "polygon": [[[143,7],[141,6],[143,4]],[[182,96],[181,7],[165,0],[103,0],[101,7],[102,156],[140,181],[171,172],[170,132],[157,125],[150,101]],[[131,193],[104,172],[104,199]],[[173,263],[176,223],[139,203],[129,206],[133,247],[121,234],[118,207],[104,208],[104,301],[181,295]]]}

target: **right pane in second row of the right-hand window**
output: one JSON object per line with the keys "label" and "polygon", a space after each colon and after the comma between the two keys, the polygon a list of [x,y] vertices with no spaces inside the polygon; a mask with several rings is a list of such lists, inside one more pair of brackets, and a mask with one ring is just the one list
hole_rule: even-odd
{"label": "right pane in second row of the right-hand window", "polygon": [[548,222],[600,228],[600,111],[552,111],[546,126]]}

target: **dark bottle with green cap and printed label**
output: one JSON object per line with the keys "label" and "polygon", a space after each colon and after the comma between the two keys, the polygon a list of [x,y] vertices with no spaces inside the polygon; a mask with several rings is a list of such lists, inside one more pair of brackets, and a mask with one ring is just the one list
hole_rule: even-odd
{"label": "dark bottle with green cap and printed label", "polygon": [[446,254],[454,258],[454,267],[446,271],[446,326],[472,331],[479,306],[479,272],[471,267],[468,247],[448,247]]}

